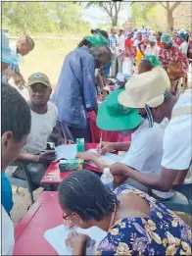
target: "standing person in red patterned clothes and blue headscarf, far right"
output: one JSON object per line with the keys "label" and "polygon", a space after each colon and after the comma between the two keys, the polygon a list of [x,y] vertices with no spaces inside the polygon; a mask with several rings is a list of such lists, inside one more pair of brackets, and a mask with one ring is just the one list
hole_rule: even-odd
{"label": "standing person in red patterned clothes and blue headscarf, far right", "polygon": [[[162,66],[167,70],[170,79],[170,91],[173,94],[178,93],[181,85],[181,77],[187,77],[188,61],[187,57],[173,45],[170,34],[164,33],[161,37],[162,46],[158,55],[158,59],[162,62]],[[182,85],[183,86],[183,85]]]}

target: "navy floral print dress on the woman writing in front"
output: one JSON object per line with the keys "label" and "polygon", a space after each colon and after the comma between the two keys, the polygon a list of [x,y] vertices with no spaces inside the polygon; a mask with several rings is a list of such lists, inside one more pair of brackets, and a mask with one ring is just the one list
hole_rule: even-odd
{"label": "navy floral print dress on the woman writing in front", "polygon": [[150,205],[150,217],[120,219],[101,241],[96,255],[192,255],[191,229],[166,206],[127,184],[115,193],[143,197]]}

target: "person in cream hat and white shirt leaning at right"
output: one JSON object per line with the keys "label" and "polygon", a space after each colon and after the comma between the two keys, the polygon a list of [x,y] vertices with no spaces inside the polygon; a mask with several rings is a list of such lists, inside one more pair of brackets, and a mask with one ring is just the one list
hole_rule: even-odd
{"label": "person in cream hat and white shirt leaning at right", "polygon": [[170,85],[166,73],[160,69],[132,77],[120,93],[120,104],[138,109],[149,126],[161,123],[168,118],[168,127],[164,135],[164,155],[160,176],[141,174],[121,164],[111,167],[115,181],[131,178],[143,185],[168,191],[173,185],[180,184],[186,178],[192,160],[192,94],[187,90],[179,98],[168,92]]}

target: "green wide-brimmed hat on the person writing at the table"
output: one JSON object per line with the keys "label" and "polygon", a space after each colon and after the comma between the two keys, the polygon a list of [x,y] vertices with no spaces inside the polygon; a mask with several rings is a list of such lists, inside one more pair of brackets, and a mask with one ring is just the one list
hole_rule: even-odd
{"label": "green wide-brimmed hat on the person writing at the table", "polygon": [[137,128],[143,119],[136,109],[120,105],[118,97],[124,89],[110,93],[98,109],[96,125],[104,130],[123,130]]}

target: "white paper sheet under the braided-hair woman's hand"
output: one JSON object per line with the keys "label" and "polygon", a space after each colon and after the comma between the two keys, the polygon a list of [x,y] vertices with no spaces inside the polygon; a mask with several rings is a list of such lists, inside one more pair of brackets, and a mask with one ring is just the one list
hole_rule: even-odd
{"label": "white paper sheet under the braided-hair woman's hand", "polygon": [[85,233],[96,241],[95,243],[90,243],[91,245],[86,248],[86,255],[94,255],[99,243],[107,234],[107,232],[100,230],[97,227],[92,227],[88,230],[81,230],[79,228],[68,230],[64,225],[60,225],[54,229],[45,231],[44,237],[53,246],[59,255],[72,255],[72,249],[65,244],[65,240],[68,237],[68,234],[72,231]]}

